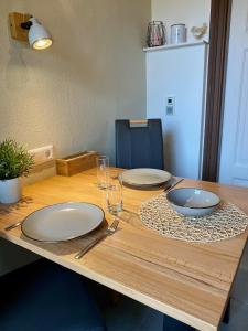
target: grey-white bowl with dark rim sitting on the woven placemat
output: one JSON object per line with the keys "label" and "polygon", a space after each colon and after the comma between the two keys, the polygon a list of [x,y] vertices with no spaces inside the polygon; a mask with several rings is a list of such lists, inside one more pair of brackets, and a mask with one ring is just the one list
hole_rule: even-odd
{"label": "grey-white bowl with dark rim sitting on the woven placemat", "polygon": [[177,213],[195,217],[212,214],[220,202],[218,195],[194,188],[172,190],[166,199]]}

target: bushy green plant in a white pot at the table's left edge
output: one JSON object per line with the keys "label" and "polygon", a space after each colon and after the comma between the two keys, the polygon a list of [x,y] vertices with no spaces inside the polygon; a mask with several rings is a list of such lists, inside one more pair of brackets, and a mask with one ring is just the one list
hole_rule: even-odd
{"label": "bushy green plant in a white pot at the table's left edge", "polygon": [[21,177],[29,174],[33,156],[13,139],[0,143],[0,202],[15,203],[21,199]]}

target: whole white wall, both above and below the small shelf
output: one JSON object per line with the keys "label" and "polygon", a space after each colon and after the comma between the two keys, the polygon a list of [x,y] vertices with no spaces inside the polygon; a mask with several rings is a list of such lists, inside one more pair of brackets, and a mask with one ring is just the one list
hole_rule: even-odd
{"label": "whole white wall, both above and below the small shelf", "polygon": [[[208,25],[211,0],[151,0],[152,20],[170,26],[184,23],[187,41],[194,42],[192,26]],[[198,40],[197,40],[198,41]],[[148,116],[163,120],[165,168],[173,174],[198,178],[205,96],[204,46],[157,51],[147,55]],[[174,116],[165,116],[165,98],[175,96]]]}

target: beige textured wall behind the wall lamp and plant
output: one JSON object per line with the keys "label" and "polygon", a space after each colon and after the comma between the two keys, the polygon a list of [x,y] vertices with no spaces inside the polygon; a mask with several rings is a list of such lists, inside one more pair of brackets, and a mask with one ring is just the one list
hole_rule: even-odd
{"label": "beige textured wall behind the wall lamp and plant", "polygon": [[[11,40],[10,11],[40,19],[54,46],[35,52]],[[1,0],[0,140],[112,157],[115,118],[145,116],[149,20],[150,0]]]}

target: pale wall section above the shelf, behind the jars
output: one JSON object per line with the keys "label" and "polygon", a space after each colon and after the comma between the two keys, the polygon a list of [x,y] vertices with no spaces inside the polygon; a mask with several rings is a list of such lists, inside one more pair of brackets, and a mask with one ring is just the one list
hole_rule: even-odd
{"label": "pale wall section above the shelf, behind the jars", "polygon": [[209,24],[209,14],[211,0],[152,0],[152,20],[164,21],[169,35],[172,24],[185,23],[188,28],[188,41],[194,41],[191,28]]}

